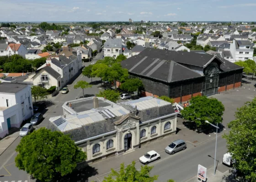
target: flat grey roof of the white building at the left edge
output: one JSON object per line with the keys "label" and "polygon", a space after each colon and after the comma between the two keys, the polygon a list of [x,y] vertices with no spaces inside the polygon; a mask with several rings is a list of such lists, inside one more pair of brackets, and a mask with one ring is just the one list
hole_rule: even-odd
{"label": "flat grey roof of the white building at the left edge", "polygon": [[27,84],[3,82],[0,83],[0,92],[15,94],[25,87],[27,87]]}

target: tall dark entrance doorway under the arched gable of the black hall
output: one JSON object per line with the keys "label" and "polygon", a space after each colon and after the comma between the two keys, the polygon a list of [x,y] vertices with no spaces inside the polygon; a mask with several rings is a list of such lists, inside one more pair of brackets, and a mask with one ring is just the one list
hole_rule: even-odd
{"label": "tall dark entrance doorway under the arched gable of the black hall", "polygon": [[218,93],[219,74],[206,76],[203,82],[203,95],[210,96]]}

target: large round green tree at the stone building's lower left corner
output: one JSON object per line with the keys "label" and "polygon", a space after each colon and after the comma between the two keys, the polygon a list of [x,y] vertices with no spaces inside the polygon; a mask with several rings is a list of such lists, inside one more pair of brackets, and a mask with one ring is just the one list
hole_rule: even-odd
{"label": "large round green tree at the stone building's lower left corner", "polygon": [[86,159],[85,152],[68,135],[44,127],[23,137],[16,152],[16,167],[41,182],[70,174]]}

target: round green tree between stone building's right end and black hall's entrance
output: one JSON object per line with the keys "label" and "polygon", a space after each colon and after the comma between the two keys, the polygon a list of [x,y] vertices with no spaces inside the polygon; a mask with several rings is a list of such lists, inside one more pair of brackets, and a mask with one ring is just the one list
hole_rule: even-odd
{"label": "round green tree between stone building's right end and black hall's entrance", "polygon": [[207,96],[195,96],[190,100],[191,105],[181,111],[182,117],[189,121],[194,121],[197,127],[206,125],[205,121],[210,123],[222,122],[224,112],[223,104],[215,98]]}

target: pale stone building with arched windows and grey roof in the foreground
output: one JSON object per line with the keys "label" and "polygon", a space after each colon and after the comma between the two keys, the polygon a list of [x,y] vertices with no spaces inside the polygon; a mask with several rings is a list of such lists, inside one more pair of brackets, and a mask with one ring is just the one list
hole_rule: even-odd
{"label": "pale stone building with arched windows and grey roof in the foreground", "polygon": [[155,97],[113,103],[88,97],[64,103],[64,116],[49,119],[48,128],[69,134],[87,153],[87,162],[132,152],[176,133],[176,112]]}

